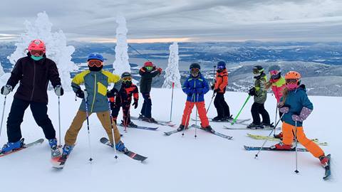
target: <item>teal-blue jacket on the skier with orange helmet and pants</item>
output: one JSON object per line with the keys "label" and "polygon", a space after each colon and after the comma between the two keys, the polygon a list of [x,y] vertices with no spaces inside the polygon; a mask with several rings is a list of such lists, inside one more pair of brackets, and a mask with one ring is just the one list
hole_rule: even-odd
{"label": "teal-blue jacket on the skier with orange helmet and pants", "polygon": [[[281,101],[283,99],[284,97],[281,97]],[[284,114],[283,121],[291,125],[295,125],[294,120],[292,120],[292,114],[301,114],[301,109],[303,107],[314,110],[314,105],[312,105],[308,95],[306,95],[305,85],[299,86],[296,90],[289,90],[284,105],[289,107],[290,110],[288,113]],[[297,127],[302,126],[302,122],[297,122]]]}

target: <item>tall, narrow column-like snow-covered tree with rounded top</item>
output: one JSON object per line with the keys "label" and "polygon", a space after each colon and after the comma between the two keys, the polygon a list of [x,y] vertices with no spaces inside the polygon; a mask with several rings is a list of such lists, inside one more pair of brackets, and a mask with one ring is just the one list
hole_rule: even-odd
{"label": "tall, narrow column-like snow-covered tree with rounded top", "polygon": [[128,43],[126,19],[123,15],[116,16],[116,46],[115,46],[115,61],[113,63],[113,73],[121,75],[124,72],[130,73],[130,63],[128,63]]}

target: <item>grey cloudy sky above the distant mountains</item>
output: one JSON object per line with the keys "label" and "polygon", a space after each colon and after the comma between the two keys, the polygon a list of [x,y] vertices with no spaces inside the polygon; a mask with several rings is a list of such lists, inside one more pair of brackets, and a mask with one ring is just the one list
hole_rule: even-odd
{"label": "grey cloudy sky above the distant mountains", "polygon": [[1,0],[0,41],[46,11],[68,40],[115,40],[115,16],[131,42],[342,41],[341,0]]}

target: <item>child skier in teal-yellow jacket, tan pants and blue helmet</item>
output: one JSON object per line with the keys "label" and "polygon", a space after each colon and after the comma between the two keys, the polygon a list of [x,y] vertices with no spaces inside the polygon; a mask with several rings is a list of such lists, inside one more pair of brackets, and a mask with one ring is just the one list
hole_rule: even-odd
{"label": "child skier in teal-yellow jacket, tan pants and blue helmet", "polygon": [[[82,73],[78,73],[71,82],[71,87],[77,97],[82,98],[81,106],[73,118],[73,122],[66,132],[65,145],[63,146],[62,159],[66,159],[76,142],[78,132],[82,128],[83,122],[88,115],[95,112],[100,120],[105,132],[108,134],[110,142],[113,144],[112,129],[115,136],[115,147],[118,151],[126,151],[125,145],[120,140],[120,133],[116,124],[111,124],[110,112],[108,107],[108,97],[113,97],[121,87],[121,79],[118,75],[113,75],[108,71],[102,70],[104,58],[99,54],[88,56],[88,68]],[[112,90],[107,91],[110,83],[115,83]],[[80,85],[84,84],[86,90],[81,90]],[[87,112],[88,110],[88,112]],[[113,128],[112,128],[113,127]]]}

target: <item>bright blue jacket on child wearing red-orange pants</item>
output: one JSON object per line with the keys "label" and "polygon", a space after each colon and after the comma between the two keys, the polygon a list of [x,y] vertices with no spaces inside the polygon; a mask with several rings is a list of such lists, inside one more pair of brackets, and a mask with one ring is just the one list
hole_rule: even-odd
{"label": "bright blue jacket on child wearing red-orange pants", "polygon": [[204,94],[209,91],[209,85],[207,80],[199,73],[198,78],[193,78],[192,75],[190,75],[189,78],[185,80],[182,90],[187,94],[187,101],[203,102]]}

